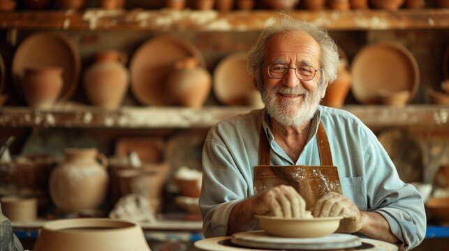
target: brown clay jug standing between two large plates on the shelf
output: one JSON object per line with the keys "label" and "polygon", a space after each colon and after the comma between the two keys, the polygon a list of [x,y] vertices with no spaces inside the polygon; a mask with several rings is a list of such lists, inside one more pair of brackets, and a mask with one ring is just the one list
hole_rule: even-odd
{"label": "brown clay jug standing between two large plates on the shelf", "polygon": [[117,51],[95,54],[94,63],[84,73],[84,90],[92,105],[117,109],[128,89],[126,55]]}

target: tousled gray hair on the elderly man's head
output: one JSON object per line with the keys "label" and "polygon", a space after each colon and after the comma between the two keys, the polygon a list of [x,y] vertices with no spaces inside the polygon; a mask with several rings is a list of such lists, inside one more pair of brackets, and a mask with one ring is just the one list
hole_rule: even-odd
{"label": "tousled gray hair on the elderly man's head", "polygon": [[[302,31],[309,34],[318,42],[321,47],[321,58],[319,63],[323,68],[323,75],[320,84],[331,83],[337,78],[337,68],[339,65],[339,53],[337,44],[330,37],[325,29],[316,24],[295,20],[286,13],[277,13],[274,16],[274,24],[268,26],[260,32],[256,44],[251,47],[248,53],[248,70],[254,76],[258,84],[263,84],[261,65],[265,58],[265,51],[268,40],[278,33]],[[256,83],[254,83],[256,84]]]}

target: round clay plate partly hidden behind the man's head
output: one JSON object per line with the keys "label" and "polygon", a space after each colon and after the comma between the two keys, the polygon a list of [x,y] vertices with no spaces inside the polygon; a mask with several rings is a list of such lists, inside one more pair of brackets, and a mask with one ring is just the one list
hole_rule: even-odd
{"label": "round clay plate partly hidden behind the man's head", "polygon": [[226,105],[249,105],[253,76],[248,73],[246,53],[226,56],[214,70],[214,94]]}

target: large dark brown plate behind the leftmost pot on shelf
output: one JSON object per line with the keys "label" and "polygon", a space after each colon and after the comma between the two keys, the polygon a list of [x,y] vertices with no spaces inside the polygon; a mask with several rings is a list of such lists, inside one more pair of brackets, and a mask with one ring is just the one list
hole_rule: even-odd
{"label": "large dark brown plate behind the leftmost pot on shelf", "polygon": [[78,48],[61,33],[38,32],[27,37],[17,48],[13,59],[13,78],[22,93],[21,79],[28,67],[57,66],[64,69],[64,86],[59,100],[68,100],[78,85],[81,61]]}

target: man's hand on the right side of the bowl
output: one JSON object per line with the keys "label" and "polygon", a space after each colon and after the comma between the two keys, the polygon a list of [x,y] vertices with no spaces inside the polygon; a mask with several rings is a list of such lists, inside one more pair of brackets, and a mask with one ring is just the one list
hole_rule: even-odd
{"label": "man's hand on the right side of the bowl", "polygon": [[355,233],[363,227],[362,213],[351,200],[337,192],[330,192],[316,201],[314,217],[343,216],[337,232]]}

